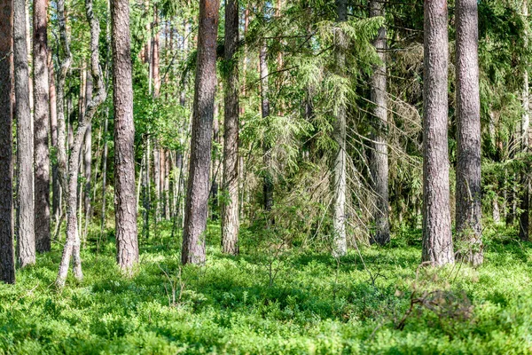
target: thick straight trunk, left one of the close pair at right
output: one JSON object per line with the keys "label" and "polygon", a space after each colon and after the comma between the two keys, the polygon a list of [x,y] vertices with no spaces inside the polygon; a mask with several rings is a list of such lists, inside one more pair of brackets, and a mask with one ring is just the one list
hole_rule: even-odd
{"label": "thick straight trunk, left one of the close pair at right", "polygon": [[425,0],[423,125],[423,261],[454,262],[447,146],[447,1]]}

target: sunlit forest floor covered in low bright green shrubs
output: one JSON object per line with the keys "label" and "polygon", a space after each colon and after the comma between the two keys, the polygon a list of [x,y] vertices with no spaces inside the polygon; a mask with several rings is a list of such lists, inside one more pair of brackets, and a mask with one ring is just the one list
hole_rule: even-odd
{"label": "sunlit forest floor covered in low bright green shrubs", "polygon": [[55,243],[0,285],[0,353],[532,353],[532,244],[502,228],[487,229],[481,268],[437,271],[419,268],[419,232],[338,261],[253,250],[252,233],[241,256],[223,256],[215,225],[207,264],[180,267],[169,229],[141,238],[132,278],[115,266],[112,235],[88,241],[84,280],[69,276],[60,293]]}

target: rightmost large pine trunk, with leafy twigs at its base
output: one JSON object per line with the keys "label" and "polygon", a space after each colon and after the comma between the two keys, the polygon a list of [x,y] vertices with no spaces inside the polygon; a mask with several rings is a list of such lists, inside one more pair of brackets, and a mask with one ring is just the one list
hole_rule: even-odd
{"label": "rightmost large pine trunk, with leafy twigs at its base", "polygon": [[[457,14],[457,238],[460,257],[482,264],[481,96],[477,0],[458,0]],[[459,250],[460,251],[460,250]]]}

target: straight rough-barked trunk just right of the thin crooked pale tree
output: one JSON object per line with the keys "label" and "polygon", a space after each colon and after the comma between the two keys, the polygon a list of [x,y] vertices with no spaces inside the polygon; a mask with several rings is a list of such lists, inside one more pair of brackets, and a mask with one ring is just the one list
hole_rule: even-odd
{"label": "straight rough-barked trunk just right of the thin crooked pale tree", "polygon": [[122,270],[138,263],[137,202],[133,141],[133,82],[129,38],[129,2],[112,0],[114,106],[114,213],[117,262]]}

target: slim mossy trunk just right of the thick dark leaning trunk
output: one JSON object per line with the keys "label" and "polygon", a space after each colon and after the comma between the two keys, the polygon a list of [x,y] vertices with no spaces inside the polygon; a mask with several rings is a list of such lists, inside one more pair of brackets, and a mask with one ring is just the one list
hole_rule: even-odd
{"label": "slim mossy trunk just right of the thick dark leaning trunk", "polygon": [[239,254],[239,70],[235,52],[239,44],[239,0],[225,4],[227,70],[223,118],[222,251]]}

